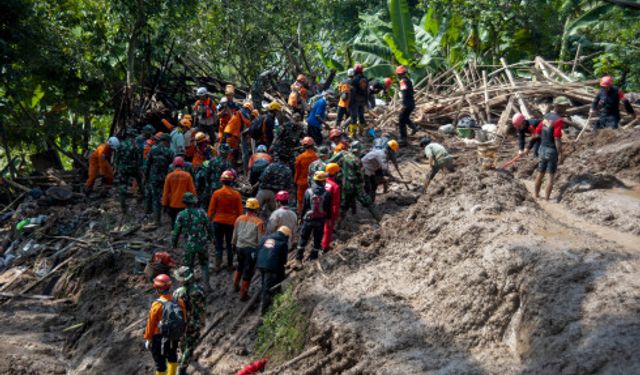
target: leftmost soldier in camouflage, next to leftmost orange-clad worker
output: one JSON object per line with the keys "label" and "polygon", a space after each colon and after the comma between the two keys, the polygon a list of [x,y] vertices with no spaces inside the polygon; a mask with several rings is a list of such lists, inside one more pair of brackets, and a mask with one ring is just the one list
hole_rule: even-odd
{"label": "leftmost soldier in camouflage, next to leftmost orange-clad worker", "polygon": [[116,169],[116,186],[118,187],[118,200],[120,201],[122,215],[127,214],[127,191],[132,178],[138,183],[138,189],[141,192],[143,191],[142,176],[140,174],[142,153],[138,152],[132,141],[135,135],[134,129],[127,129],[125,132],[126,138],[120,142],[114,156],[113,164]]}

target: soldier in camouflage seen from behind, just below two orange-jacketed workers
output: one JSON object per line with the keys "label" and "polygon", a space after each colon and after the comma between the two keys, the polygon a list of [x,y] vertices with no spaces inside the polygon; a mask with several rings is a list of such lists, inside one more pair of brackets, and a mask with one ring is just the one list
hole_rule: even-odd
{"label": "soldier in camouflage seen from behind, just below two orange-jacketed workers", "polygon": [[196,207],[198,198],[195,195],[186,192],[182,201],[187,207],[180,211],[176,217],[176,223],[171,233],[171,245],[174,249],[178,247],[178,240],[184,232],[184,264],[193,269],[197,257],[200,267],[202,267],[205,286],[208,288],[209,252],[207,251],[207,243],[213,238],[209,218],[206,212]]}

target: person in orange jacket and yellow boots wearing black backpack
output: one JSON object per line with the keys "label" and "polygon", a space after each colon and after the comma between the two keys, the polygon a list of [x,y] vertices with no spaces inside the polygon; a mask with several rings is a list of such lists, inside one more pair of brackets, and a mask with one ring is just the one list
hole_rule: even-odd
{"label": "person in orange jacket and yellow boots wearing black backpack", "polygon": [[151,351],[156,375],[176,375],[178,343],[186,328],[186,308],[183,301],[176,301],[171,295],[172,283],[165,274],[153,279],[153,288],[159,298],[151,303],[144,331],[144,347]]}

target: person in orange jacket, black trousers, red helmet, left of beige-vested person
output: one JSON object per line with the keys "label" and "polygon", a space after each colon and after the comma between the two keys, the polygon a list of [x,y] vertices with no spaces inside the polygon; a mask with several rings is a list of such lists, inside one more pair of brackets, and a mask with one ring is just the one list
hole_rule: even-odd
{"label": "person in orange jacket, black trousers, red helmet, left of beige-vested person", "polygon": [[216,242],[215,271],[222,269],[222,249],[227,247],[227,269],[233,271],[233,225],[238,216],[242,215],[242,197],[232,185],[235,174],[231,170],[222,172],[220,176],[222,187],[211,195],[209,201],[209,220],[213,222],[213,233]]}

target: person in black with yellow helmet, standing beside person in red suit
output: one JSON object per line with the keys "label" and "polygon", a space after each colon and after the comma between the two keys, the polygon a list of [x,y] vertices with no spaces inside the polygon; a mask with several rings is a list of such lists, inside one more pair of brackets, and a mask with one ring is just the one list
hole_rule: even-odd
{"label": "person in black with yellow helmet, standing beside person in red suit", "polygon": [[326,220],[332,218],[331,193],[325,189],[327,173],[316,172],[313,175],[313,185],[304,193],[302,206],[302,227],[300,229],[300,242],[296,251],[296,268],[302,267],[304,249],[313,236],[313,248],[309,259],[317,259],[318,252],[322,248],[322,236]]}

